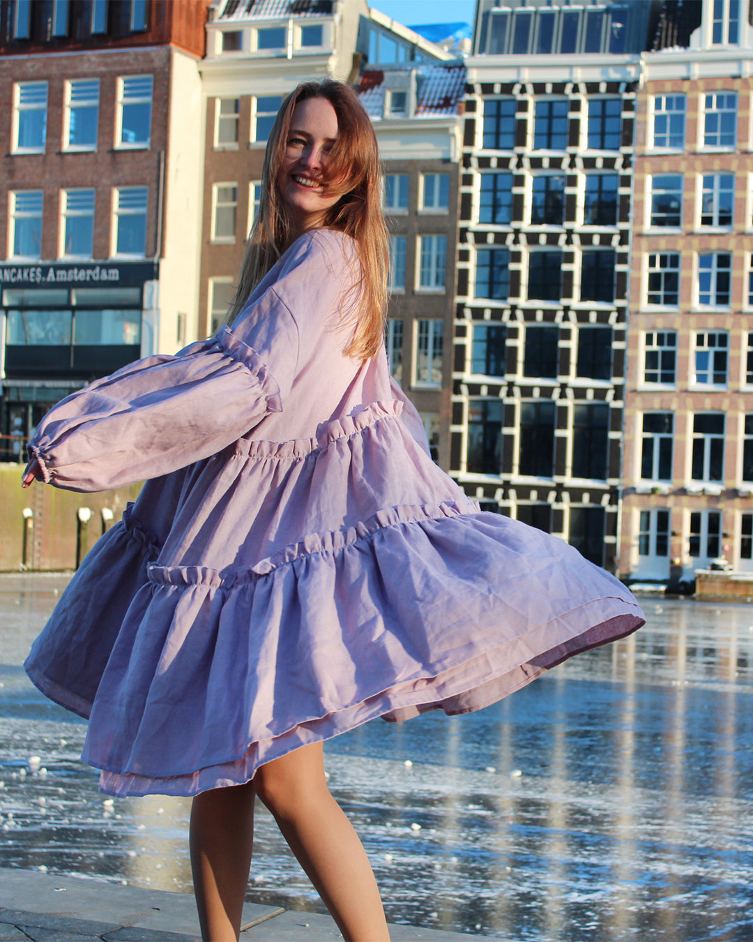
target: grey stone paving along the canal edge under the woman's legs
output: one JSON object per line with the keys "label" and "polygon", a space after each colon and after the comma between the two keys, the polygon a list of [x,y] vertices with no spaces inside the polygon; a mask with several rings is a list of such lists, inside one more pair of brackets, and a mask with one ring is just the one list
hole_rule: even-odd
{"label": "grey stone paving along the canal edge under the woman's legs", "polygon": [[[332,919],[246,903],[241,939],[323,942],[339,939]],[[391,926],[393,942],[470,942],[472,935]],[[88,877],[0,869],[0,942],[199,942],[192,896]]]}

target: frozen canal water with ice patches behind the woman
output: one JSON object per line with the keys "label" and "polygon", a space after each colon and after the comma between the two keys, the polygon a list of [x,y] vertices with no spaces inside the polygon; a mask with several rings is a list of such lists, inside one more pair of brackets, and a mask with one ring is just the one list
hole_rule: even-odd
{"label": "frozen canal water with ice patches behind the woman", "polygon": [[[65,582],[0,577],[0,866],[188,891],[189,803],[108,801],[78,761],[85,725],[23,673]],[[646,609],[632,639],[495,707],[328,744],[392,921],[516,942],[753,939],[753,607]],[[321,909],[263,808],[248,899]]]}

